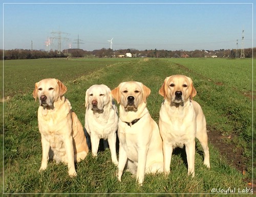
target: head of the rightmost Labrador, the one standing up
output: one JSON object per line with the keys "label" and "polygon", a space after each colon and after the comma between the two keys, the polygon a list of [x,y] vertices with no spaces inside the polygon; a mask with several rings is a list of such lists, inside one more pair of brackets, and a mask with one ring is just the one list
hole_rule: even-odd
{"label": "head of the rightmost Labrador, the one standing up", "polygon": [[164,80],[159,90],[164,99],[174,104],[183,104],[197,94],[193,82],[184,75],[173,75]]}

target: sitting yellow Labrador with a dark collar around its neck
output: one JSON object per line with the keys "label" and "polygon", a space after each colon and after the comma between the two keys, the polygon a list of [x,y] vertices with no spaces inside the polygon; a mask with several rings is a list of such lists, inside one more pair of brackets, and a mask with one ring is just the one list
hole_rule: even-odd
{"label": "sitting yellow Labrador with a dark collar around its neck", "polygon": [[111,91],[119,107],[118,180],[126,166],[141,185],[145,173],[163,171],[162,139],[146,108],[151,90],[140,82],[123,82]]}

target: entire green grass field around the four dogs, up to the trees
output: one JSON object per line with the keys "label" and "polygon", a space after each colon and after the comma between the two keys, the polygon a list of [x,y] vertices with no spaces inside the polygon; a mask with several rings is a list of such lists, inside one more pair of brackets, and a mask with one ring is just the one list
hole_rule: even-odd
{"label": "entire green grass field around the four dogs, up to the trees", "polygon": [[[124,81],[140,81],[151,88],[147,108],[158,122],[165,77],[182,74],[193,79],[209,136],[218,133],[223,147],[209,139],[211,168],[203,166],[197,143],[196,176],[187,177],[184,149],[176,149],[171,173],[146,175],[142,187],[130,173],[115,176],[109,149],[91,154],[76,165],[76,178],[67,166],[50,162],[38,173],[41,160],[35,82],[57,78],[67,87],[66,97],[84,125],[84,96],[93,84],[111,89]],[[4,193],[218,193],[219,189],[250,193],[252,183],[252,60],[251,59],[40,59],[4,62]],[[255,122],[255,121],[254,121]],[[226,154],[225,147],[229,147]],[[230,149],[231,147],[231,149]],[[234,165],[240,155],[243,173]],[[217,189],[215,191],[214,189]],[[239,190],[240,189],[240,190]],[[243,190],[244,189],[244,190]]]}

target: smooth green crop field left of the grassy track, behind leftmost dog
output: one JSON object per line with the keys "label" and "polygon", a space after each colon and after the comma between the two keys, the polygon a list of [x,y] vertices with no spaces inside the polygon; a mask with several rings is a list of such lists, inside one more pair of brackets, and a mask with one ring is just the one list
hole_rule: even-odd
{"label": "smooth green crop field left of the grassy track, behind leftmost dog", "polygon": [[[80,76],[123,59],[35,59],[4,61],[5,97],[27,93],[35,82],[45,78],[57,78],[62,82],[74,81]],[[1,68],[3,68],[1,66]],[[13,83],[15,82],[15,83]]]}

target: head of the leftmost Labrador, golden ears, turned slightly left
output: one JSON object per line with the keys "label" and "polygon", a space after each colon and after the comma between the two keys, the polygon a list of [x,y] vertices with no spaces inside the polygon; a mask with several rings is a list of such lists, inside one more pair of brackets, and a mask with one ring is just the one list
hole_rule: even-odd
{"label": "head of the leftmost Labrador, golden ears, turned slightly left", "polygon": [[33,97],[39,99],[40,106],[53,107],[57,101],[67,91],[67,87],[57,79],[43,79],[35,83]]}

